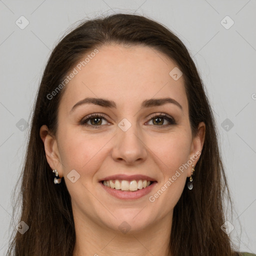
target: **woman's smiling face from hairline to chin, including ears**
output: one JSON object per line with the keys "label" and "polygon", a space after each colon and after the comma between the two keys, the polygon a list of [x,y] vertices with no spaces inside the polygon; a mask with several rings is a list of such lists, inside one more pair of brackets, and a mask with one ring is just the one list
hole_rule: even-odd
{"label": "woman's smiling face from hairline to chin, including ears", "polygon": [[[65,86],[56,137],[44,141],[47,160],[64,177],[76,219],[129,231],[170,222],[204,124],[193,138],[183,76],[164,54],[146,46],[97,49]],[[110,179],[104,183],[121,189],[102,183]],[[141,188],[139,180],[154,182]]]}

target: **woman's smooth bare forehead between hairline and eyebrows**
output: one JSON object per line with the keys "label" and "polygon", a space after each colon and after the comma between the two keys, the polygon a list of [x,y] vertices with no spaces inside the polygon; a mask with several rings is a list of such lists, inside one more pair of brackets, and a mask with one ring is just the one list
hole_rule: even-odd
{"label": "woman's smooth bare forehead between hairline and eyebrows", "polygon": [[165,54],[148,46],[119,44],[103,45],[97,50],[96,54],[90,54],[93,49],[84,54],[74,66],[76,74],[67,83],[61,99],[66,110],[85,97],[107,98],[115,101],[118,108],[167,96],[187,109],[184,79],[181,76],[174,80],[170,76],[177,65]]}

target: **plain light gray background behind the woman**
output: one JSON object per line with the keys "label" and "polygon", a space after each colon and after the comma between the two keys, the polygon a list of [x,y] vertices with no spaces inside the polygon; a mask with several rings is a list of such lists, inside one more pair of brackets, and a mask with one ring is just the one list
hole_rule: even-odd
{"label": "plain light gray background behind the woman", "polygon": [[[9,226],[10,195],[24,157],[25,124],[30,123],[49,53],[75,21],[113,12],[136,12],[161,22],[193,56],[216,117],[234,201],[234,219],[226,218],[234,225],[230,235],[241,251],[255,253],[255,10],[256,0],[0,0],[0,254],[15,228]],[[25,24],[21,15],[29,21],[24,29],[15,23]],[[231,27],[226,15],[234,21]]]}

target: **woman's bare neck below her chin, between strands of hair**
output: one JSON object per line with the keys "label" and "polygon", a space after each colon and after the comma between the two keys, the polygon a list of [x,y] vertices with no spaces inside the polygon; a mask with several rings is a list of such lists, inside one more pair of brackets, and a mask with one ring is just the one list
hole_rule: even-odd
{"label": "woman's bare neck below her chin, between strands of hair", "polygon": [[172,212],[144,229],[122,233],[74,214],[76,237],[72,256],[170,256],[171,220]]}

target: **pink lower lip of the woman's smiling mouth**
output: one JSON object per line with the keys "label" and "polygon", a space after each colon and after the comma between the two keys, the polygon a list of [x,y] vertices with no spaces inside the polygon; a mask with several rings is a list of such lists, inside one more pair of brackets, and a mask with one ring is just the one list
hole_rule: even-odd
{"label": "pink lower lip of the woman's smiling mouth", "polygon": [[134,200],[138,199],[148,193],[151,192],[153,189],[154,185],[157,183],[154,181],[150,186],[147,186],[142,189],[138,189],[136,191],[123,191],[121,189],[114,189],[108,186],[103,185],[103,183],[99,182],[101,186],[105,189],[106,192],[111,194],[112,196],[118,198],[118,199],[125,199],[125,200]]}

